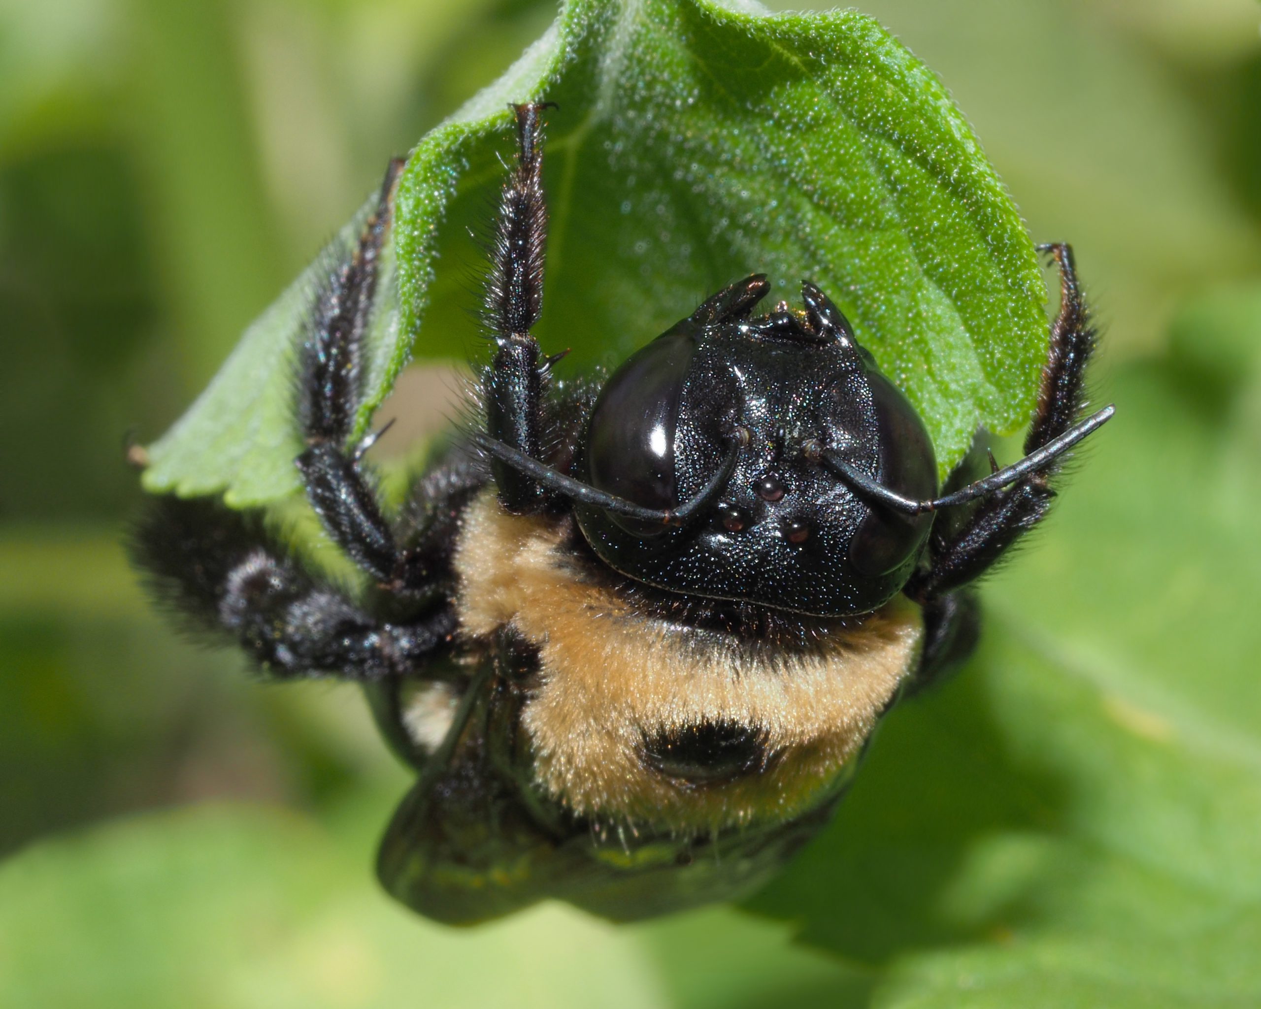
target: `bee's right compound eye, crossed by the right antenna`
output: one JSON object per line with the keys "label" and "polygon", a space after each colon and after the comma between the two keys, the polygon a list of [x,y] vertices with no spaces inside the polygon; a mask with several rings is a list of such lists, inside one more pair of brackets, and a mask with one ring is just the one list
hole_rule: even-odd
{"label": "bee's right compound eye, crossed by the right antenna", "polygon": [[[874,368],[868,371],[875,404],[879,467],[876,479],[910,498],[937,494],[937,457],[924,423],[910,401]],[[850,541],[850,563],[875,578],[897,570],[928,537],[932,513],[909,517],[873,504]]]}

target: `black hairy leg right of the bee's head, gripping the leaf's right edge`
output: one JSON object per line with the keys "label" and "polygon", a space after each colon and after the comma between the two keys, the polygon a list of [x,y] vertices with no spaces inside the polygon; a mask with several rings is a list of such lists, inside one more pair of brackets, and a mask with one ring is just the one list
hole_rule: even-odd
{"label": "black hairy leg right of the bee's head, gripping the leaf's right edge", "polygon": [[[1078,423],[1084,409],[1086,365],[1095,351],[1096,329],[1082,296],[1073,250],[1068,245],[1040,246],[1059,266],[1059,314],[1050,328],[1050,351],[1043,367],[1038,407],[1024,450],[1031,455]],[[936,599],[985,573],[1025,532],[1037,526],[1055,496],[1053,481],[1063,454],[1004,491],[972,506],[960,523],[939,523],[929,542],[929,565],[907,584],[907,594],[922,603]],[[996,469],[996,467],[994,467]]]}

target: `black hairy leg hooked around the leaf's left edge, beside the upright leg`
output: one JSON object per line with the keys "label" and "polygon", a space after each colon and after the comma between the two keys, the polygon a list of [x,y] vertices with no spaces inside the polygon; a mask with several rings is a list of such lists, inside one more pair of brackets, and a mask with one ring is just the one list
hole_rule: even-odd
{"label": "black hairy leg hooked around the leaf's left edge, beside the upright leg", "polygon": [[449,537],[400,536],[382,513],[363,454],[369,435],[349,444],[362,401],[364,339],[377,288],[377,265],[390,227],[402,160],[390,163],[376,211],[358,243],[332,271],[309,323],[298,376],[298,419],[306,450],[296,465],[306,497],[328,535],[386,593],[433,594],[445,568]]}

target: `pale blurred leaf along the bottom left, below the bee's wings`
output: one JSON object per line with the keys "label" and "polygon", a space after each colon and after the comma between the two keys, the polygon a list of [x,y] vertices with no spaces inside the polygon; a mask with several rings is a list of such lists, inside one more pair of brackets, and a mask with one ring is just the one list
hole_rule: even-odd
{"label": "pale blurred leaf along the bottom left, below the bee's wings", "polygon": [[[779,1005],[776,990],[842,974],[730,911],[675,918],[661,936],[555,904],[475,930],[426,922],[369,880],[362,826],[386,810],[351,812],[353,839],[288,814],[206,807],[30,849],[0,869],[0,1004],[702,1009]],[[754,986],[681,988],[654,966],[667,940],[707,948],[706,970]],[[731,998],[715,1003],[723,991]]]}

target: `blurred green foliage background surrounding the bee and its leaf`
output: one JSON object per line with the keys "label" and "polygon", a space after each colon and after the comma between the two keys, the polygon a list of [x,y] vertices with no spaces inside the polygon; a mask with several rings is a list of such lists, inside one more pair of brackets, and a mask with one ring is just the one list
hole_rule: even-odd
{"label": "blurred green foliage background surrounding the bee and its leaf", "polygon": [[[1101,399],[1122,412],[1052,528],[991,583],[996,629],[977,661],[893,716],[856,811],[754,902],[762,913],[613,930],[549,907],[453,933],[371,879],[406,777],[354,690],[260,686],[236,655],[150,612],[120,547],[139,502],[124,446],[165,430],[385,159],[502,72],[555,9],[0,3],[0,1003],[903,1004],[914,993],[899,971],[939,994],[917,956],[1019,942],[1055,919],[1049,904],[1029,911],[1028,880],[1029,907],[950,904],[977,839],[1013,825],[1086,849],[1150,831],[1126,858],[1179,878],[1190,860],[1200,897],[1242,902],[1214,921],[1235,913],[1261,936],[1261,820],[1214,819],[1219,805],[1261,812],[1261,5],[863,9],[941,74],[1034,237],[1074,242],[1107,325]],[[1082,709],[1009,696],[1010,670],[1043,661],[1095,684],[1108,730],[1156,755],[1100,750],[1097,766],[1048,769],[1021,753],[1042,745],[1037,723],[1010,735],[1026,708]],[[1093,753],[1100,734],[1074,725],[1074,752]],[[987,733],[997,755],[979,749]],[[961,738],[977,791],[1000,796],[990,805],[942,798],[958,782],[934,791],[932,754]],[[1178,740],[1194,759],[1158,753]],[[1119,767],[1135,778],[1116,795],[1150,808],[1101,827],[1091,803],[1107,806],[1107,790],[1090,798],[1081,782]],[[1179,791],[1184,772],[1200,791]],[[908,787],[919,814],[898,819],[890,796]],[[1040,797],[1024,802],[1029,790]],[[941,844],[917,861],[899,849],[908,834]],[[846,866],[874,890],[828,889]],[[821,928],[811,902],[832,893],[856,923]],[[878,907],[893,924],[864,923]],[[1177,1004],[1256,1004],[1257,980],[1229,956],[1200,966],[1229,998],[1199,1003],[1192,986]]]}

